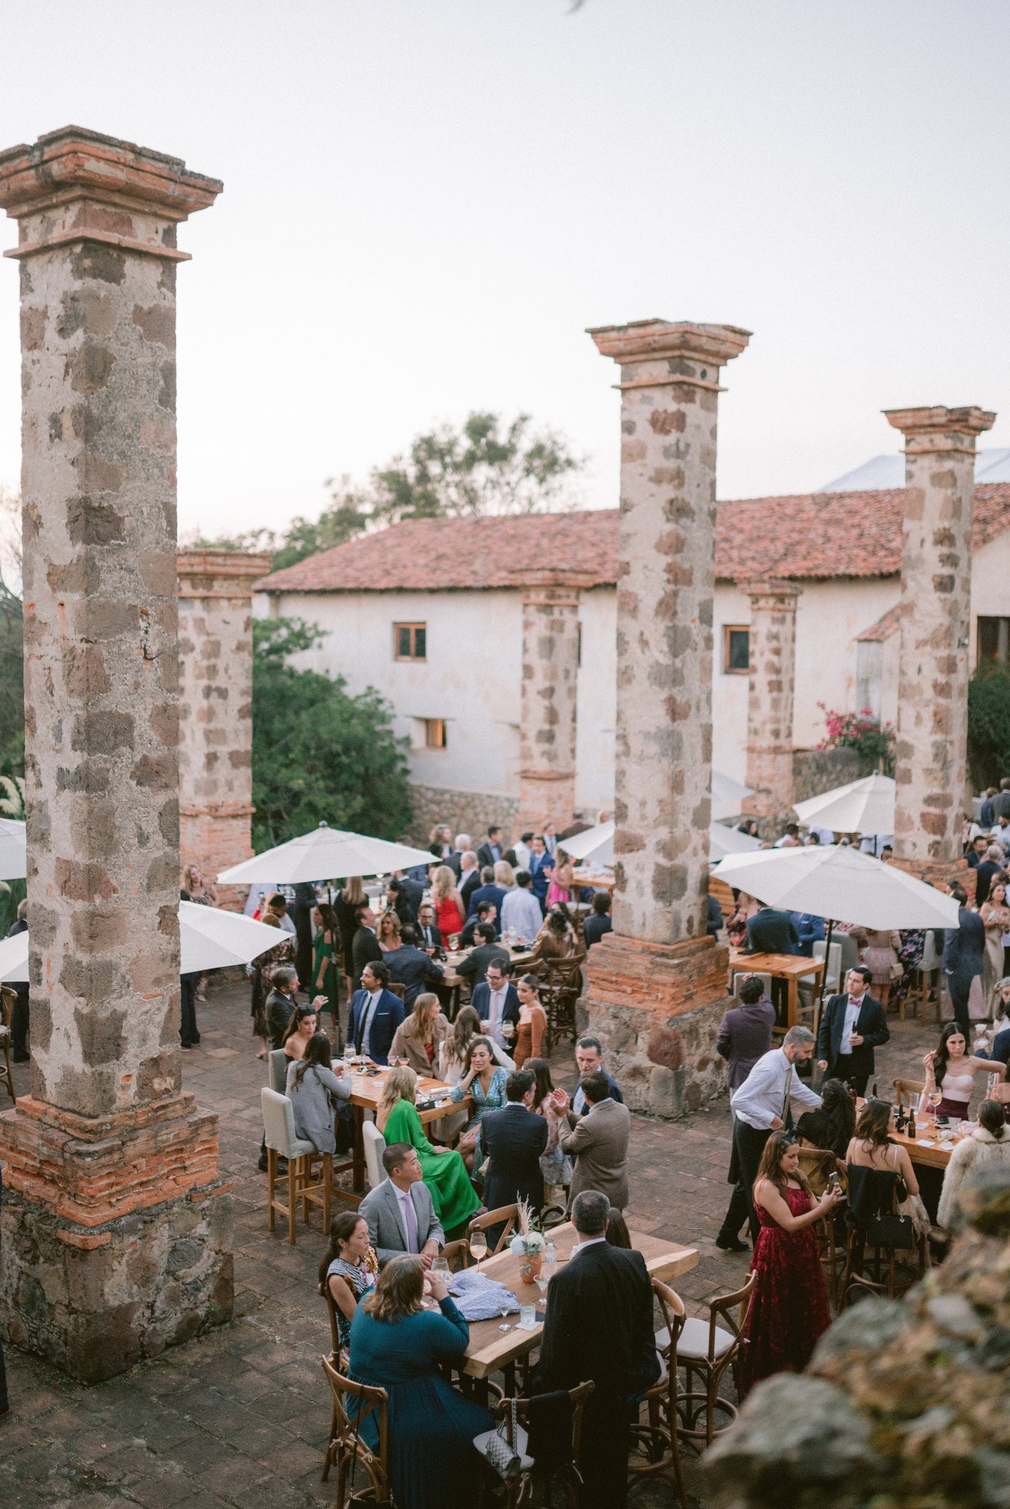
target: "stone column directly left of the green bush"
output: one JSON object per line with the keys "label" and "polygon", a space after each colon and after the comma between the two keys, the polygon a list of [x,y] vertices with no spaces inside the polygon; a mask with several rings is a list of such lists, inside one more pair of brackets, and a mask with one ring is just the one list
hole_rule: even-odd
{"label": "stone column directly left of the green bush", "polygon": [[[252,593],[270,555],[179,551],[179,853],[214,880],[252,857]],[[241,911],[247,887],[223,886]]]}

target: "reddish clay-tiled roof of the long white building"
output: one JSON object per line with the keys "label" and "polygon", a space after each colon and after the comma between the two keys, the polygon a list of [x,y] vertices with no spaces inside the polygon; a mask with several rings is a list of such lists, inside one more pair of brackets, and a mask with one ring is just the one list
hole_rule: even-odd
{"label": "reddish clay-tiled roof of the long white building", "polygon": [[[716,576],[794,581],[894,576],[904,489],[721,502]],[[493,519],[418,519],[365,534],[264,576],[262,592],[425,592],[508,587],[519,569],[617,581],[617,509]],[[975,489],[975,548],[1010,527],[1010,483]]]}

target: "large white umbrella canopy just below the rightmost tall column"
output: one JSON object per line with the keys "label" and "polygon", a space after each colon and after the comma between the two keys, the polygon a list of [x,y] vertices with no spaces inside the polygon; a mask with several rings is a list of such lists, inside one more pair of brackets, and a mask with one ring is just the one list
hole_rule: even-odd
{"label": "large white umbrella canopy just below the rightmost tall column", "polygon": [[846,845],[733,854],[713,875],[769,907],[868,928],[956,928],[957,902],[895,865]]}

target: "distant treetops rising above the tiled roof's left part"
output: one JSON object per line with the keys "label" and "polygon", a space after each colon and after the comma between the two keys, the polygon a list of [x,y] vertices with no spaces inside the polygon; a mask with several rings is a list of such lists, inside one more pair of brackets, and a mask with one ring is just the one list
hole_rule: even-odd
{"label": "distant treetops rising above the tiled roof's left part", "polygon": [[511,423],[485,410],[461,426],[436,426],[410,442],[406,456],[375,466],[366,483],[329,477],[330,502],[318,519],[294,518],[286,530],[250,530],[193,546],[268,549],[273,569],[345,545],[359,534],[404,519],[463,519],[478,515],[549,513],[579,501],[574,481],[585,459],[564,436],[535,427],[528,413]]}

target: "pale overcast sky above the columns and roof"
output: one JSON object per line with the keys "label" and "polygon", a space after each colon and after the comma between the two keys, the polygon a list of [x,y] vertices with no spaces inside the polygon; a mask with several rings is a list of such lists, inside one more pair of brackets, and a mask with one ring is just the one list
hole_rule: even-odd
{"label": "pale overcast sky above the columns and roof", "polygon": [[[1010,445],[1005,0],[3,0],[0,146],[74,122],[223,178],[179,228],[179,525],[282,527],[472,407],[617,502],[585,326],[742,324],[719,496],[978,403]],[[0,222],[3,246],[17,240]],[[17,483],[0,264],[0,483]]]}

